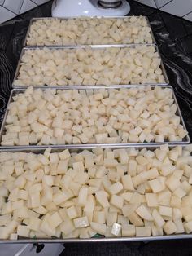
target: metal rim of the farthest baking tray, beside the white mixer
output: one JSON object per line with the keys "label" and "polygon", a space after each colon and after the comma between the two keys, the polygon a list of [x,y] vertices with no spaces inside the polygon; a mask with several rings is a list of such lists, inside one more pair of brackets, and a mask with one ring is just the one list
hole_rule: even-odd
{"label": "metal rim of the farthest baking tray, beside the white mixer", "polygon": [[[105,19],[130,19],[132,16],[90,16],[89,18],[98,18],[98,19],[101,19],[101,18],[105,18]],[[151,28],[151,24],[150,24],[150,21],[148,19],[148,17],[146,16],[143,16],[146,18],[146,22],[147,22],[147,25],[148,27]],[[26,33],[26,36],[24,38],[24,43],[23,43],[23,46],[24,47],[30,47],[30,46],[33,46],[33,45],[27,45],[27,39],[28,39],[28,35],[30,33],[30,29],[31,29],[31,25],[33,24],[33,22],[37,21],[37,20],[69,20],[69,19],[78,19],[80,18],[79,16],[74,16],[74,17],[61,17],[61,18],[53,18],[53,17],[42,17],[42,18],[32,18],[28,24],[28,30],[27,30],[27,33]],[[152,31],[152,28],[151,28],[151,38],[152,38],[152,43],[151,44],[156,44],[156,41],[155,41],[155,36],[154,36],[154,33]],[[120,44],[124,44],[124,43],[120,43]],[[146,44],[145,42],[144,43],[137,43],[136,45],[140,45],[140,44]],[[102,45],[102,44],[100,44]],[[41,47],[41,46],[75,46],[75,45],[35,45],[34,47]]]}

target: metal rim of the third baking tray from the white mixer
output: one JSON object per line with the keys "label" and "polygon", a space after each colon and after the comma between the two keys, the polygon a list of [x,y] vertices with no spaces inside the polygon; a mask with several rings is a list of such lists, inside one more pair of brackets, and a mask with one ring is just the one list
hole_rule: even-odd
{"label": "metal rim of the third baking tray from the white mixer", "polygon": [[[140,87],[143,87],[142,85],[139,85]],[[133,87],[138,87],[137,86],[126,86],[126,88],[133,88]],[[144,86],[145,87],[145,86]],[[152,88],[155,88],[155,86],[151,86]],[[120,89],[120,87],[116,87],[114,86],[113,88],[109,88],[107,86],[103,86],[102,88],[106,89],[106,90],[111,90],[111,89]],[[181,110],[179,108],[179,105],[177,103],[177,99],[176,99],[176,96],[174,95],[174,90],[172,89],[172,86],[161,86],[161,88],[169,88],[172,90],[172,97],[175,101],[175,104],[177,104],[177,115],[181,118],[181,125],[183,126],[183,128],[186,130],[186,126],[185,126],[185,122],[183,120],[183,117],[182,117],[182,114],[181,114]],[[53,86],[53,87],[43,87],[42,90],[49,90],[49,89],[56,89],[56,90],[72,90],[72,89],[76,89],[76,90],[97,90],[97,89],[101,89],[100,86],[64,86],[64,87],[61,87],[61,86]],[[10,98],[9,98],[9,101],[8,101],[8,104],[7,104],[7,110],[6,110],[6,113],[4,115],[4,118],[3,118],[3,121],[2,121],[2,127],[1,127],[1,130],[0,130],[0,142],[2,141],[2,135],[5,135],[6,134],[6,129],[5,129],[5,126],[6,126],[6,119],[7,119],[7,114],[8,114],[8,107],[9,107],[9,104],[11,103],[12,101],[12,97],[15,96],[15,95],[18,95],[19,93],[22,93],[24,92],[24,89],[13,89],[11,90],[11,95],[10,95]],[[80,147],[81,145],[81,148],[89,148],[89,147],[94,147],[94,146],[97,146],[97,147],[100,147],[100,146],[107,146],[109,145],[111,148],[115,148],[115,147],[126,147],[127,145],[130,145],[130,146],[137,146],[137,145],[140,145],[140,146],[145,146],[147,147],[148,145],[161,145],[161,144],[164,144],[164,143],[168,143],[170,145],[178,145],[178,144],[188,144],[190,143],[190,136],[187,134],[185,136],[184,139],[182,139],[181,141],[164,141],[162,143],[155,143],[155,142],[151,142],[151,143],[103,143],[103,144],[97,144],[97,143],[94,143],[94,144],[72,144],[72,145],[68,145],[68,144],[62,144],[62,145],[59,145],[60,148],[68,148],[69,146],[71,146],[72,148],[76,148],[76,147]],[[50,147],[50,148],[57,148],[58,145],[29,145],[29,146],[1,146],[0,145],[0,149],[2,148],[47,148],[47,147]]]}

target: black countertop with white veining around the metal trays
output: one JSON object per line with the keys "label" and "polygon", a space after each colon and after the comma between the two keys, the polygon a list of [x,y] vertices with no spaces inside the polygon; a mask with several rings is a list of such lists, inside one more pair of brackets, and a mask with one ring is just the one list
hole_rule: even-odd
{"label": "black countertop with white veining around the metal trays", "polygon": [[[146,15],[151,23],[171,86],[192,138],[192,23],[129,1],[130,15]],[[52,1],[0,24],[0,122],[7,107],[29,20],[50,16]],[[65,245],[62,255],[191,255],[192,240]],[[51,256],[54,256],[50,253]]]}

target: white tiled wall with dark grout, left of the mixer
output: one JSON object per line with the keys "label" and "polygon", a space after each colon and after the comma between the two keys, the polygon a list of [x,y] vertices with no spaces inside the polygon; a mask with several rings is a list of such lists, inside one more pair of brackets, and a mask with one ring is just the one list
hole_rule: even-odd
{"label": "white tiled wall with dark grout, left of the mixer", "polygon": [[0,0],[0,24],[50,0]]}

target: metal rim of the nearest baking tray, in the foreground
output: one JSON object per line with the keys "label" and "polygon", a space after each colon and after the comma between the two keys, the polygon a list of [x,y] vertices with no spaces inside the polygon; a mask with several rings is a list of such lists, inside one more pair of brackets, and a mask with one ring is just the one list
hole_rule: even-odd
{"label": "metal rim of the nearest baking tray, in the foreground", "polygon": [[[89,146],[87,147],[88,150],[91,150],[92,148],[96,148],[97,146]],[[72,148],[71,146],[66,147],[66,149],[69,149],[70,152],[80,152],[84,148],[81,146],[78,146],[76,148]],[[101,148],[111,148],[111,146],[101,146]],[[124,147],[116,146],[116,148],[112,149],[118,149],[118,148],[133,148],[130,145],[126,145]],[[135,145],[134,148],[141,149],[147,148],[148,150],[155,150],[158,148],[158,146],[138,146]],[[173,148],[173,146],[169,146],[169,148]],[[185,148],[184,145],[182,145],[182,148]],[[63,148],[53,148],[52,152],[60,152]],[[2,150],[3,152],[33,152],[33,153],[42,153],[43,149],[7,149]],[[164,236],[123,236],[123,237],[98,237],[98,238],[69,238],[69,239],[57,239],[57,238],[48,238],[48,239],[30,239],[30,238],[20,238],[19,240],[0,240],[0,244],[28,244],[28,243],[86,243],[86,242],[122,242],[122,241],[163,241],[163,240],[177,240],[177,239],[190,239],[192,238],[192,234],[177,234],[177,235],[164,235]]]}

